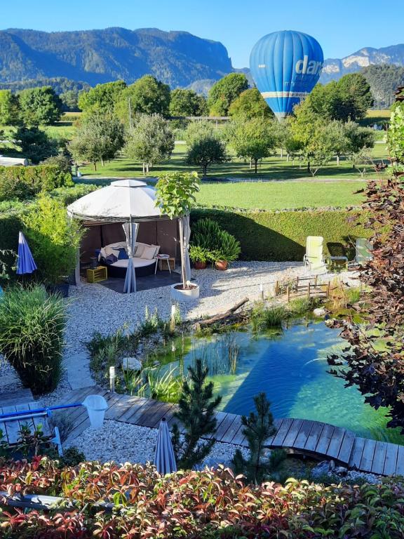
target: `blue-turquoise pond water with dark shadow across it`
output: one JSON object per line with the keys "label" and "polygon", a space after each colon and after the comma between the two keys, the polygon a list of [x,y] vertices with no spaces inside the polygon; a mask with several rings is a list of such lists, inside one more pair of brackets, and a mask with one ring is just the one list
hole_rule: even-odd
{"label": "blue-turquoise pond water with dark shadow across it", "polygon": [[[220,409],[248,414],[253,397],[264,391],[274,418],[318,420],[356,432],[359,436],[404,444],[398,430],[386,428],[384,411],[365,404],[355,387],[328,373],[327,354],[339,352],[346,342],[323,321],[296,321],[282,331],[257,335],[248,329],[167,343],[158,352],[165,368],[187,371],[201,357],[209,366]],[[229,347],[238,349],[236,362]]]}

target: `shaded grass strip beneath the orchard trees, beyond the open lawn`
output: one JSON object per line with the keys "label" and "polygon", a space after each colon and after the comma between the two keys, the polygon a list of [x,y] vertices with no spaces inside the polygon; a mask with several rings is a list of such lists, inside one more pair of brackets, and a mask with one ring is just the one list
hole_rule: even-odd
{"label": "shaded grass strip beneath the orchard trees, beyond the open lawn", "polygon": [[[164,172],[169,171],[191,171],[194,167],[185,164],[185,155],[187,147],[184,144],[175,145],[175,150],[171,159],[166,159],[163,163],[156,165],[149,173],[150,176],[159,176]],[[375,159],[386,158],[386,145],[384,143],[375,144],[373,150]],[[97,171],[94,171],[93,166],[81,167],[81,173],[89,178],[97,176],[142,176],[142,166],[139,162],[125,157],[119,157],[104,167],[98,166]],[[372,168],[369,166],[369,171],[372,173]],[[286,161],[281,159],[279,155],[264,159],[259,166],[257,175],[250,170],[249,165],[241,159],[235,157],[230,162],[211,166],[208,169],[208,178],[265,178],[271,180],[304,180],[311,179],[311,175],[307,173],[307,168],[304,163],[295,161]],[[342,159],[340,166],[337,166],[335,161],[331,161],[328,166],[321,168],[315,176],[316,180],[332,178],[335,180],[356,180],[360,178],[359,174],[352,169],[349,161]]]}

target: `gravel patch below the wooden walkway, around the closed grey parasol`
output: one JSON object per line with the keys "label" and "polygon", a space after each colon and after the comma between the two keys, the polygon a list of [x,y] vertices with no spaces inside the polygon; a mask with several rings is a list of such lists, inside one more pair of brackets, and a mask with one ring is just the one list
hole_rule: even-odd
{"label": "gravel patch below the wooden walkway, around the closed grey parasol", "polygon": [[[114,460],[117,463],[147,463],[154,460],[157,442],[157,429],[137,427],[119,421],[107,420],[100,430],[87,429],[79,437],[69,441],[67,446],[76,446],[88,460],[100,460],[102,463]],[[229,465],[236,448],[234,444],[216,442],[210,455],[201,467]],[[243,455],[248,451],[241,448]]]}

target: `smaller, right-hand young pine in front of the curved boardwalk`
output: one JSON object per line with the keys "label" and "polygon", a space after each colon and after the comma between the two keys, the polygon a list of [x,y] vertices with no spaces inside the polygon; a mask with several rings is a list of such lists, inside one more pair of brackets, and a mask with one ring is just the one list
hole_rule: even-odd
{"label": "smaller, right-hand young pine in front of the curved boardwalk", "polygon": [[271,404],[265,393],[254,397],[257,413],[250,412],[248,418],[243,415],[241,422],[244,425],[243,434],[247,438],[250,455],[245,459],[239,449],[234,453],[232,463],[236,474],[243,474],[250,483],[260,484],[276,472],[286,453],[282,450],[271,451],[269,459],[263,460],[264,444],[269,437],[274,436],[274,418],[269,410]]}

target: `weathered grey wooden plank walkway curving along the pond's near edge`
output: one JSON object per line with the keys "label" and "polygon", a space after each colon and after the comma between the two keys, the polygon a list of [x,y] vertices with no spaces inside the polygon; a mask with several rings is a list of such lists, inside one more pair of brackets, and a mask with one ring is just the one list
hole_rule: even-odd
{"label": "weathered grey wooden plank walkway curving along the pond's near edge", "polygon": [[[95,393],[107,399],[107,420],[154,429],[159,427],[162,418],[166,418],[169,427],[176,421],[173,417],[177,407],[175,404],[110,393],[98,387],[72,392],[64,404],[81,402],[88,394]],[[85,408],[74,408],[69,413],[69,419],[74,425],[69,439],[73,439],[90,425]],[[248,446],[240,415],[217,411],[216,419],[215,440]],[[268,440],[268,447],[285,448],[290,453],[309,455],[320,460],[332,459],[342,465],[355,467],[361,472],[404,475],[404,446],[356,437],[354,432],[319,421],[285,418],[275,420],[275,426],[277,432]]]}

